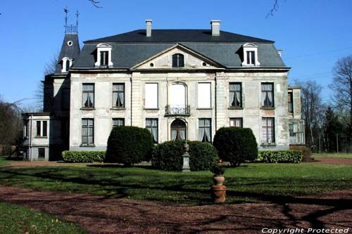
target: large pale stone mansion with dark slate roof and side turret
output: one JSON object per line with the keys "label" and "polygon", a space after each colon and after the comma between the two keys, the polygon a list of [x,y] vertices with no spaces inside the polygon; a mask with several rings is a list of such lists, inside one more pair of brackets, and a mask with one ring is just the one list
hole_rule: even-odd
{"label": "large pale stone mansion with dark slate roof and side turret", "polygon": [[25,160],[106,150],[113,126],[149,129],[155,143],[212,143],[222,126],[250,128],[259,150],[304,144],[301,89],[288,86],[274,41],[220,30],[134,30],[84,41],[66,26],[44,112],[25,113]]}

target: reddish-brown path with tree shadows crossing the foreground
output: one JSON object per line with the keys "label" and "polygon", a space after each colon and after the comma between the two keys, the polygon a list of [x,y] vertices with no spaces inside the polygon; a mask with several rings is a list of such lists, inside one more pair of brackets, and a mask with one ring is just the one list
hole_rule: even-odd
{"label": "reddish-brown path with tree shadows crossing the foreground", "polygon": [[352,233],[352,189],[270,200],[275,202],[188,206],[0,186],[0,202],[58,215],[91,233],[248,234],[263,228],[349,228]]}

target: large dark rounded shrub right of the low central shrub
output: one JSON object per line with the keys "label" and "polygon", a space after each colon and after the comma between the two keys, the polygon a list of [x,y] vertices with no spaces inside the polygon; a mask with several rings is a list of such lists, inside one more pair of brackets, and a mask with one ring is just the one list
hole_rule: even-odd
{"label": "large dark rounded shrub right of the low central shrub", "polygon": [[258,157],[258,145],[251,129],[222,127],[216,131],[213,145],[220,159],[235,167]]}

